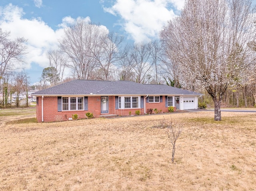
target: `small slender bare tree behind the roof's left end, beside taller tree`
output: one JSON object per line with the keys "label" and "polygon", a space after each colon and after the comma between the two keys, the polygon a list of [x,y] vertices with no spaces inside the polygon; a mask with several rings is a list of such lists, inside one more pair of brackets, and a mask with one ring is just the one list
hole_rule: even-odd
{"label": "small slender bare tree behind the roof's left end, beside taller tree", "polygon": [[47,58],[49,59],[50,67],[54,67],[58,71],[58,77],[62,82],[64,69],[68,63],[67,58],[59,51],[48,51]]}

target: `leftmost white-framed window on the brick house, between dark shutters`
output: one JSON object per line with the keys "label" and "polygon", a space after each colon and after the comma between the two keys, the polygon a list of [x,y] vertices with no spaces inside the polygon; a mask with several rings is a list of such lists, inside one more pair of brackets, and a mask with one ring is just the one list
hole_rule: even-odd
{"label": "leftmost white-framed window on the brick house, between dark shutters", "polygon": [[83,110],[84,97],[62,97],[62,110]]}

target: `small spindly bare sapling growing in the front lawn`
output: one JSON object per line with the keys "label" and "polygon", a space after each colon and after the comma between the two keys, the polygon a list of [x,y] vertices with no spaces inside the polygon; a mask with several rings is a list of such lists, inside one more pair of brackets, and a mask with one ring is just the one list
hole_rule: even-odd
{"label": "small spindly bare sapling growing in the front lawn", "polygon": [[161,122],[161,127],[166,128],[166,132],[168,134],[168,138],[172,143],[172,163],[174,162],[174,154],[175,154],[175,145],[178,140],[180,134],[182,133],[182,126],[178,124],[173,124],[172,119],[166,120],[165,118]]}

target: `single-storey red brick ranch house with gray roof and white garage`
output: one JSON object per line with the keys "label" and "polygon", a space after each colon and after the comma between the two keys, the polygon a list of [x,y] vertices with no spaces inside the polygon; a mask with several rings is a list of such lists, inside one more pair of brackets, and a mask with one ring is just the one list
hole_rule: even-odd
{"label": "single-storey red brick ranch house with gray roof and white garage", "polygon": [[167,85],[139,84],[131,81],[74,80],[32,94],[36,96],[38,122],[146,114],[148,109],[168,112],[197,109],[202,94]]}

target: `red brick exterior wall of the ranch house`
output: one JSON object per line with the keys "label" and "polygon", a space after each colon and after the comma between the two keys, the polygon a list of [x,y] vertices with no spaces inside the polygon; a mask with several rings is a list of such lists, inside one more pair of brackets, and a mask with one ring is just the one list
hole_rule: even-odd
{"label": "red brick exterior wall of the ranch house", "polygon": [[[42,120],[42,102],[43,102],[43,120]],[[168,112],[168,107],[165,106],[165,96],[162,96],[162,102],[146,102],[144,99],[144,108],[127,108],[127,109],[115,109],[115,96],[108,96],[108,114],[116,114],[120,116],[136,115],[136,110],[140,110],[140,114],[143,115],[144,111],[148,109],[157,108],[158,111]],[[143,106],[143,107],[144,107]],[[174,111],[176,108],[174,107]],[[57,96],[38,96],[36,105],[36,118],[38,122],[54,122],[54,121],[66,121],[72,118],[73,114],[78,114],[78,119],[86,118],[86,113],[90,112],[95,118],[101,115],[101,96],[88,96],[88,110],[72,110],[72,111],[58,111],[58,97]]]}

